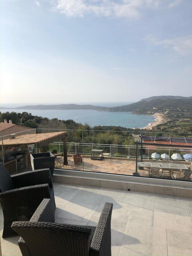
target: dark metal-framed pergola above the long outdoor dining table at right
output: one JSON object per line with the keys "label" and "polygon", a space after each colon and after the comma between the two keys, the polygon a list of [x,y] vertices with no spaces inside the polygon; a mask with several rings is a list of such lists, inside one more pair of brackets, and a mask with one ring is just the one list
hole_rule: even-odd
{"label": "dark metal-framed pergola above the long outdoor dining table at right", "polygon": [[150,146],[166,146],[166,147],[178,147],[178,148],[192,148],[192,138],[174,138],[172,136],[169,137],[159,137],[159,136],[144,136],[140,135],[140,139],[136,142],[136,167],[135,173],[133,175],[139,176],[138,173],[138,145],[141,145],[141,161],[143,161],[143,145]]}

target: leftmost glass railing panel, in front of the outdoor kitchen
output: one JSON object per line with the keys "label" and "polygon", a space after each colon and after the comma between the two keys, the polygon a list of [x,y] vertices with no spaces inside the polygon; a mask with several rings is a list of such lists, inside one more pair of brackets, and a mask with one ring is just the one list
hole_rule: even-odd
{"label": "leftmost glass railing panel, in front of the outdoor kitchen", "polygon": [[36,153],[36,131],[30,129],[2,137],[1,156],[10,174],[32,170],[30,154]]}

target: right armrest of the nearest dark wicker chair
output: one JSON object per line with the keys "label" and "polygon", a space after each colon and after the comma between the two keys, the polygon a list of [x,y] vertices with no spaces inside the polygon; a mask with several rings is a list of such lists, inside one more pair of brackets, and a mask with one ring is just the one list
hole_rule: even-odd
{"label": "right armrest of the nearest dark wicker chair", "polygon": [[112,203],[105,203],[91,242],[90,256],[111,256],[112,209]]}

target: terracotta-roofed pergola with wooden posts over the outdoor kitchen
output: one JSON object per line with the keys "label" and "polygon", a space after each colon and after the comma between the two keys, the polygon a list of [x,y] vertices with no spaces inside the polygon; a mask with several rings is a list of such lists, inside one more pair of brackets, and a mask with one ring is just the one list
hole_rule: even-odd
{"label": "terracotta-roofed pergola with wooden posts over the outdoor kitchen", "polygon": [[53,143],[55,140],[62,139],[63,141],[63,156],[64,161],[63,164],[67,165],[67,132],[50,132],[50,133],[37,133],[37,134],[24,134],[17,136],[15,138],[5,139],[0,141],[0,145],[2,145],[3,159],[4,159],[4,150],[3,146],[11,146],[11,145],[24,145],[24,144],[36,144],[37,149],[44,147],[50,143]]}

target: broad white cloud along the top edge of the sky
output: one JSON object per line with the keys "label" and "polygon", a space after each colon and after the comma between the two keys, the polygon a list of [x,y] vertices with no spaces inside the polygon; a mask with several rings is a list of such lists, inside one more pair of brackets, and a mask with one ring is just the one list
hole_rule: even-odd
{"label": "broad white cloud along the top edge of the sky", "polygon": [[70,17],[112,16],[139,18],[143,8],[172,8],[182,0],[52,0],[55,11]]}

